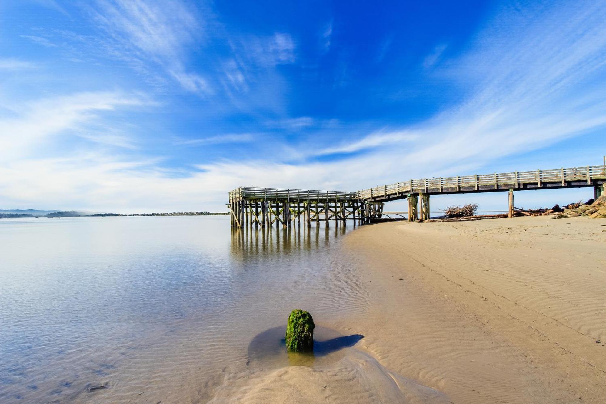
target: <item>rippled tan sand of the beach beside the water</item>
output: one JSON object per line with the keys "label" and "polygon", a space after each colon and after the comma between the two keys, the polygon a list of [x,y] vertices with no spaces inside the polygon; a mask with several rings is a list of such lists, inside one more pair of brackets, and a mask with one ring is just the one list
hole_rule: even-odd
{"label": "rippled tan sand of the beach beside the water", "polygon": [[342,253],[364,311],[325,326],[365,337],[216,402],[604,402],[606,220],[384,223]]}

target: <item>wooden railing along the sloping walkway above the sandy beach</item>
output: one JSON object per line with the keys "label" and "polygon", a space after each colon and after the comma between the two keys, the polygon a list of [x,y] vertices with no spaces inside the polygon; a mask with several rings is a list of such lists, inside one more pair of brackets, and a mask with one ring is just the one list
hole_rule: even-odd
{"label": "wooden railing along the sloping walkway above the sandy beach", "polygon": [[465,175],[462,177],[423,178],[395,184],[373,187],[358,191],[358,198],[380,200],[398,197],[402,194],[441,194],[451,192],[473,192],[473,190],[519,189],[524,187],[540,188],[548,186],[567,186],[570,182],[606,178],[606,166],[585,166],[559,168],[553,170],[534,170],[521,172]]}

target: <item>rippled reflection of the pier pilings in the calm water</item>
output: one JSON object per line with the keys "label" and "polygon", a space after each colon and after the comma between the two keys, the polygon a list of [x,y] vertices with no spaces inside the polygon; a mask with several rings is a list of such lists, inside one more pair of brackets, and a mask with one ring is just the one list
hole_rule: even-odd
{"label": "rippled reflection of the pier pilings in the calm water", "polygon": [[328,227],[324,224],[318,226],[281,227],[232,227],[231,249],[238,254],[265,255],[288,254],[296,251],[315,251],[324,248],[332,240],[351,231],[353,226]]}

